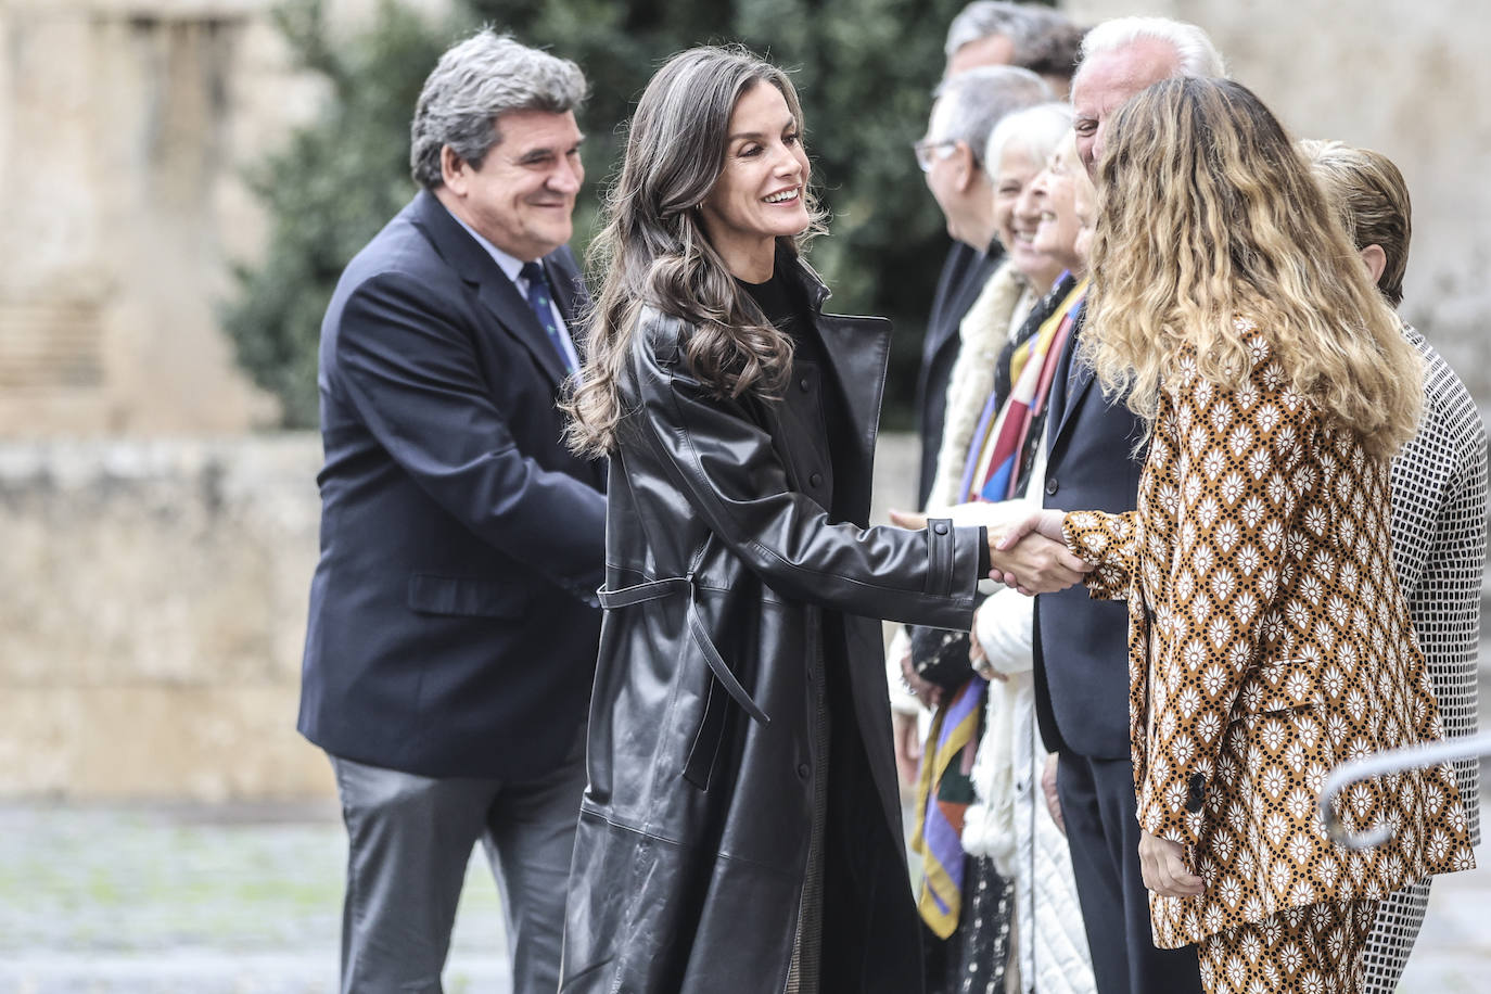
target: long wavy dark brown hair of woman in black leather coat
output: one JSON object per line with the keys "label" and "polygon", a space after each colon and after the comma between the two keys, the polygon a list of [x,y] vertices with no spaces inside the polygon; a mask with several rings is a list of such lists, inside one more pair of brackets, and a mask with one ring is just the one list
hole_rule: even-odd
{"label": "long wavy dark brown hair of woman in black leather coat", "polygon": [[[689,323],[689,368],[719,396],[772,396],[786,383],[792,340],[740,291],[698,210],[725,168],[735,103],[759,85],[781,91],[801,134],[802,106],[787,75],[741,46],[680,52],[643,91],[607,197],[605,227],[589,253],[590,271],[605,276],[589,320],[584,384],[565,405],[571,450],[598,456],[616,447],[626,413],[619,376],[643,306]],[[816,200],[804,195],[813,222],[777,240],[778,265],[796,259],[804,241],[822,231]]]}

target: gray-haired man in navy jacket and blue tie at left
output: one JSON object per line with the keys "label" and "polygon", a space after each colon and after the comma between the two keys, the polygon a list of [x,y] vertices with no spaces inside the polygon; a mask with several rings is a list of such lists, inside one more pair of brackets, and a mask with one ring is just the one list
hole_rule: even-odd
{"label": "gray-haired man in navy jacket and blue tie at left", "polygon": [[423,189],[322,323],[300,730],[347,827],[344,991],[440,991],[479,839],[514,990],[558,987],[604,544],[604,474],[556,408],[583,95],[573,63],[491,31],[447,51],[410,128]]}

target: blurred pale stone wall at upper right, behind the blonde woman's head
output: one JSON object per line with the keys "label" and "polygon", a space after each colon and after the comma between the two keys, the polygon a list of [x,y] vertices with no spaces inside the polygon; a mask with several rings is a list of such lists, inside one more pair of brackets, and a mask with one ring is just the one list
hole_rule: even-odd
{"label": "blurred pale stone wall at upper right, behind the blonde woman's head", "polygon": [[1491,405],[1491,4],[1484,0],[1065,0],[1082,24],[1133,13],[1203,27],[1299,137],[1397,162],[1413,197],[1403,313]]}

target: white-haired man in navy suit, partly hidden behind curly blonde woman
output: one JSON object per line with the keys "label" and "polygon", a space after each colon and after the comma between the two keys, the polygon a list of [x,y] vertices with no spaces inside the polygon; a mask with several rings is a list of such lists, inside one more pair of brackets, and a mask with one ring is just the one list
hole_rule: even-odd
{"label": "white-haired man in navy suit, partly hidden behind curly blonde woman", "polygon": [[[1082,40],[1072,79],[1078,155],[1094,173],[1109,116],[1141,89],[1173,76],[1221,76],[1206,34],[1163,18],[1099,24]],[[1144,425],[1105,398],[1093,370],[1074,362],[1081,331],[1056,370],[1047,419],[1045,505],[1132,511]],[[1196,949],[1156,949],[1139,863],[1141,830],[1129,741],[1129,615],[1082,586],[1035,605],[1036,717],[1057,754],[1048,802],[1059,797],[1082,924],[1100,994],[1196,994]],[[1054,814],[1054,812],[1053,812]]]}

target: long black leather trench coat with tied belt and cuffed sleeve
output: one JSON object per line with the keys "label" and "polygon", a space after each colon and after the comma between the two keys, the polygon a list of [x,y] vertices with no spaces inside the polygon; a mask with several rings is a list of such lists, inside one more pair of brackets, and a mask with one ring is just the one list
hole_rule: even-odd
{"label": "long black leather trench coat with tied belt and cuffed sleeve", "polygon": [[[877,618],[968,627],[980,532],[866,526],[890,326],[823,314],[828,291],[787,264],[814,301],[825,382],[842,386],[823,402],[853,428],[828,446],[787,437],[778,404],[713,396],[681,353],[687,326],[640,317],[562,991],[784,990],[820,759],[810,674],[825,669],[822,990],[921,990]],[[822,452],[841,519],[808,496]]]}

